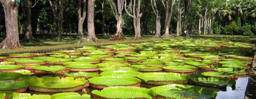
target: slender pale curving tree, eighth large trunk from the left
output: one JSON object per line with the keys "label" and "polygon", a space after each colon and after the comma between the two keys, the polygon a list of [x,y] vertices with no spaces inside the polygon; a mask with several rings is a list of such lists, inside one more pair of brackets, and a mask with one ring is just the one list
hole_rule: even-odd
{"label": "slender pale curving tree, eighth large trunk from the left", "polygon": [[159,10],[157,8],[157,2],[156,0],[153,0],[153,3],[152,3],[152,0],[151,1],[151,6],[152,6],[152,9],[154,11],[154,14],[155,14],[155,35],[153,36],[153,38],[160,38],[161,37],[161,23],[160,23],[160,14],[159,14]]}

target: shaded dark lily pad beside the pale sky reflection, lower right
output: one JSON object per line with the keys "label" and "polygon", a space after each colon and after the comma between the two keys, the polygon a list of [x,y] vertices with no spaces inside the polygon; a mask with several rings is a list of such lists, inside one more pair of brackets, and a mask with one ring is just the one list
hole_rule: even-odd
{"label": "shaded dark lily pad beside the pale sky reflection, lower right", "polygon": [[203,86],[203,87],[216,87],[216,88],[226,88],[232,87],[233,85],[236,84],[236,81],[230,80],[230,79],[222,79],[222,78],[194,78],[192,80],[193,84]]}

